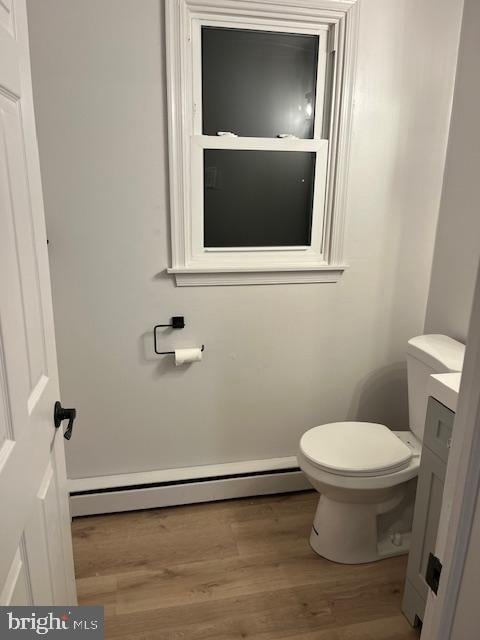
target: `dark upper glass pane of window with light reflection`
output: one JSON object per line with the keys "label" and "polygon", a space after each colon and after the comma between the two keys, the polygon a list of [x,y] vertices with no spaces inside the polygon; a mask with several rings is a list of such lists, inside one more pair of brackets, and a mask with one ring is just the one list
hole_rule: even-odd
{"label": "dark upper glass pane of window with light reflection", "polygon": [[203,133],[313,137],[318,37],[202,27]]}

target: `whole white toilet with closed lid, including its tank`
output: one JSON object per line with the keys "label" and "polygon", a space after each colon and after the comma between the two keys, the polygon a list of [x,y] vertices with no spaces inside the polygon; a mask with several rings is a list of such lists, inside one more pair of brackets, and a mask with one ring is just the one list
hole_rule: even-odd
{"label": "whole white toilet with closed lid, including its tank", "polygon": [[429,376],[461,371],[464,352],[443,335],[409,340],[409,430],[333,422],[303,434],[298,463],[320,494],[310,535],[316,553],[357,564],[408,552]]}

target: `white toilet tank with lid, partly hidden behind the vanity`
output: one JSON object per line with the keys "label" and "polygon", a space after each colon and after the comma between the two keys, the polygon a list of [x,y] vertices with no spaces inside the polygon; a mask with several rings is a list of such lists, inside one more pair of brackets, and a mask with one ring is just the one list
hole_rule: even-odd
{"label": "white toilet tank with lid, partly hidden behind the vanity", "polygon": [[408,341],[408,413],[410,429],[423,441],[427,414],[427,386],[432,373],[461,371],[465,345],[448,336],[417,336]]}

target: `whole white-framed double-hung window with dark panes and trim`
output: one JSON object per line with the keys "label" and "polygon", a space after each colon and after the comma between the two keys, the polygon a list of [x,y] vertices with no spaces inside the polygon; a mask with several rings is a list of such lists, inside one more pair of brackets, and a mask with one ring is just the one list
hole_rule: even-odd
{"label": "whole white-framed double-hung window with dark panes and trim", "polygon": [[[355,2],[167,0],[178,285],[335,281]],[[260,6],[261,5],[261,6]],[[297,15],[298,12],[298,15]]]}

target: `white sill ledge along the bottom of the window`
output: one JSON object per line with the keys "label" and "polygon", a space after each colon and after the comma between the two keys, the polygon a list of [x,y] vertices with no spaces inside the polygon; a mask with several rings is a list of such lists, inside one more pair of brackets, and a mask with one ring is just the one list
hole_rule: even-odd
{"label": "white sill ledge along the bottom of the window", "polygon": [[167,269],[175,276],[177,287],[308,284],[338,282],[347,265],[305,265],[303,267],[245,267],[245,268],[189,268]]}

